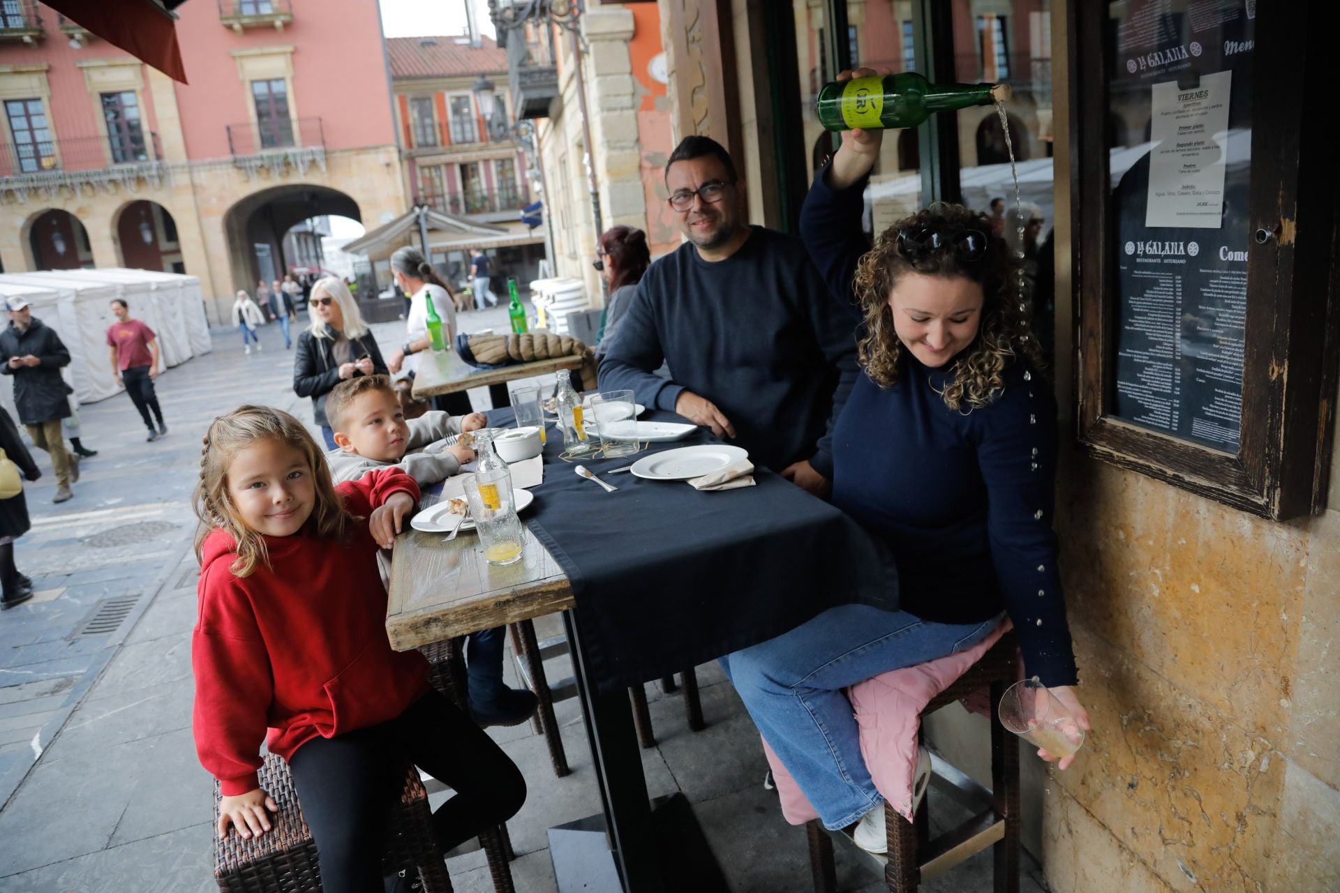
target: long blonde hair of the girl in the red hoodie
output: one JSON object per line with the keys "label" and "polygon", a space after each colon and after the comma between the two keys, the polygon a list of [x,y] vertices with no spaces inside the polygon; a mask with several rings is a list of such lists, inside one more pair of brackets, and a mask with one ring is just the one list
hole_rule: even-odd
{"label": "long blonde hair of the girl in the red hoodie", "polygon": [[335,493],[330,469],[316,440],[302,422],[283,410],[269,406],[240,406],[217,416],[205,432],[205,446],[200,451],[200,482],[192,495],[192,507],[200,525],[196,529],[196,561],[204,561],[205,538],[217,527],[237,544],[237,560],[228,568],[237,577],[249,577],[257,564],[269,566],[265,541],[261,534],[247,527],[237,506],[228,494],[228,466],[239,450],[259,440],[279,440],[302,451],[312,474],[316,505],[311,521],[322,540],[343,540],[352,515]]}

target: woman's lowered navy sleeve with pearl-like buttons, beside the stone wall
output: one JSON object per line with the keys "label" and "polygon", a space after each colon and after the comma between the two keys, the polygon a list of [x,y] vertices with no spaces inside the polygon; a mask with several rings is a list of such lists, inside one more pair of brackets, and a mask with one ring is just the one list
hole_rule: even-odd
{"label": "woman's lowered navy sleeve with pearl-like buttons, beside the stone wall", "polygon": [[1056,404],[1048,383],[1026,366],[1016,364],[1005,379],[1005,391],[972,414],[992,562],[1025,672],[1044,685],[1072,685],[1077,675],[1052,529]]}

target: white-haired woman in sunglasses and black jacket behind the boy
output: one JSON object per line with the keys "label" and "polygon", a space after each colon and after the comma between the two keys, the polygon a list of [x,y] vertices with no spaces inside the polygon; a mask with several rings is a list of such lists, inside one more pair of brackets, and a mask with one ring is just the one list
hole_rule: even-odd
{"label": "white-haired woman in sunglasses and black jacket behind the boy", "polygon": [[307,308],[312,324],[297,337],[293,391],[297,396],[312,398],[312,415],[326,435],[326,447],[334,450],[335,432],[326,420],[326,396],[346,379],[387,375],[386,363],[354,296],[339,278],[327,276],[312,285]]}

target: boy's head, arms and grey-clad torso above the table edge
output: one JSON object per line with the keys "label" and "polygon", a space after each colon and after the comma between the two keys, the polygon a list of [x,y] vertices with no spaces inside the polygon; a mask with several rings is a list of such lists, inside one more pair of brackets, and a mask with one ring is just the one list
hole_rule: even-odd
{"label": "boy's head, arms and grey-clad torso above the table edge", "polygon": [[460,474],[461,463],[470,462],[474,451],[460,444],[437,453],[410,450],[421,450],[453,434],[477,431],[485,424],[481,412],[452,416],[433,411],[406,420],[401,400],[385,375],[340,382],[326,398],[326,418],[339,444],[326,454],[332,483],[358,481],[373,469],[394,466],[421,487]]}

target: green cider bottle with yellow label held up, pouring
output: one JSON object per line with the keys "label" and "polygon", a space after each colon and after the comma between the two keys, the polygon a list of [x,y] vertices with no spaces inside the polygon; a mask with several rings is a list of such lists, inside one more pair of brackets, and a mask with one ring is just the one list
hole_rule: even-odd
{"label": "green cider bottle with yellow label held up, pouring", "polygon": [[937,111],[990,106],[1009,96],[1006,84],[933,84],[907,71],[827,83],[816,112],[828,130],[888,130],[915,127]]}

